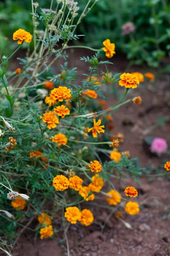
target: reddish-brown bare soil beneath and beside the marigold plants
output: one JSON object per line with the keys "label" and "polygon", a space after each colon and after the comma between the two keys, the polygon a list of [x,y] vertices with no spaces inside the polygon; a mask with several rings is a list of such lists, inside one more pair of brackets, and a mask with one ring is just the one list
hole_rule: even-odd
{"label": "reddish-brown bare soil beneath and beside the marigold plants", "polygon": [[[82,73],[88,72],[85,62],[76,56],[87,56],[92,52],[78,51],[72,58],[72,66],[78,67],[78,83],[84,79]],[[147,68],[129,67],[128,61],[122,57],[114,57],[114,65],[107,65],[113,73],[148,72]],[[156,73],[157,71],[155,71]],[[131,157],[138,157],[141,166],[160,166],[162,158],[150,157],[143,148],[143,138],[146,135],[162,137],[170,141],[170,75],[164,75],[164,80],[155,84],[142,83],[138,89],[131,90],[126,99],[141,96],[142,104],[133,102],[119,108],[113,115],[115,132],[123,132],[124,142],[121,151],[129,150]],[[110,86],[109,84],[107,86]],[[115,96],[108,93],[107,106],[116,103]],[[119,88],[123,92],[123,88]],[[109,95],[109,96],[108,96]],[[166,116],[163,126],[153,126],[158,118]],[[115,182],[115,181],[114,181]],[[131,229],[115,217],[113,211],[88,204],[94,214],[94,222],[89,227],[80,224],[70,225],[67,236],[70,256],[169,256],[170,229],[168,213],[170,212],[170,181],[168,175],[163,178],[141,178],[142,186],[131,178],[125,178],[116,188],[123,195],[124,188],[134,186],[139,195],[135,201],[140,204],[140,212],[136,216],[129,216],[123,211],[122,220],[131,225]],[[102,199],[101,199],[102,200]],[[97,199],[99,202],[99,198]],[[96,203],[95,201],[93,203]],[[123,203],[124,204],[124,203]],[[87,204],[86,204],[87,205]],[[107,204],[104,204],[107,205]],[[123,205],[122,205],[123,206]],[[105,228],[103,228],[103,225]],[[55,228],[55,225],[54,225]],[[19,232],[19,231],[18,231]],[[68,255],[63,234],[58,233],[54,239],[34,240],[31,231],[23,233],[18,239],[13,256],[62,256]],[[63,241],[63,242],[62,242]]]}

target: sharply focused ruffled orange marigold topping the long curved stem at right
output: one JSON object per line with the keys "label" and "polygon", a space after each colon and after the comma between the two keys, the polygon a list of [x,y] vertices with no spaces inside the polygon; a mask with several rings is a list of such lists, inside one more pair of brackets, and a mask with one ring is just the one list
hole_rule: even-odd
{"label": "sharply focused ruffled orange marigold topping the long curved stem at right", "polygon": [[130,73],[123,73],[122,75],[120,75],[120,81],[119,81],[119,85],[121,86],[125,86],[125,88],[137,88],[137,84],[139,84],[139,79],[137,77],[137,75],[133,75]]}

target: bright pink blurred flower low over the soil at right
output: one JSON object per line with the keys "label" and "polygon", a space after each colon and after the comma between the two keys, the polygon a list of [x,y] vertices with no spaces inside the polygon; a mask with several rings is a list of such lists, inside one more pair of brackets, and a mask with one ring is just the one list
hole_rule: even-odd
{"label": "bright pink blurred flower low over the soil at right", "polygon": [[152,153],[156,153],[158,156],[160,156],[162,153],[166,153],[168,148],[166,140],[162,138],[155,138],[152,141],[150,150]]}

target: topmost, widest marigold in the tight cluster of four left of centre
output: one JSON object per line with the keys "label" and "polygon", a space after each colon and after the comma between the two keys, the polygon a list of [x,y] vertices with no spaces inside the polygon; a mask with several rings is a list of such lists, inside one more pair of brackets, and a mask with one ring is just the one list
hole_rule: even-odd
{"label": "topmost, widest marigold in the tight cluster of four left of centre", "polygon": [[59,101],[69,101],[71,99],[71,90],[68,89],[66,86],[59,86],[58,88],[54,88],[51,91],[51,95],[54,100]]}

